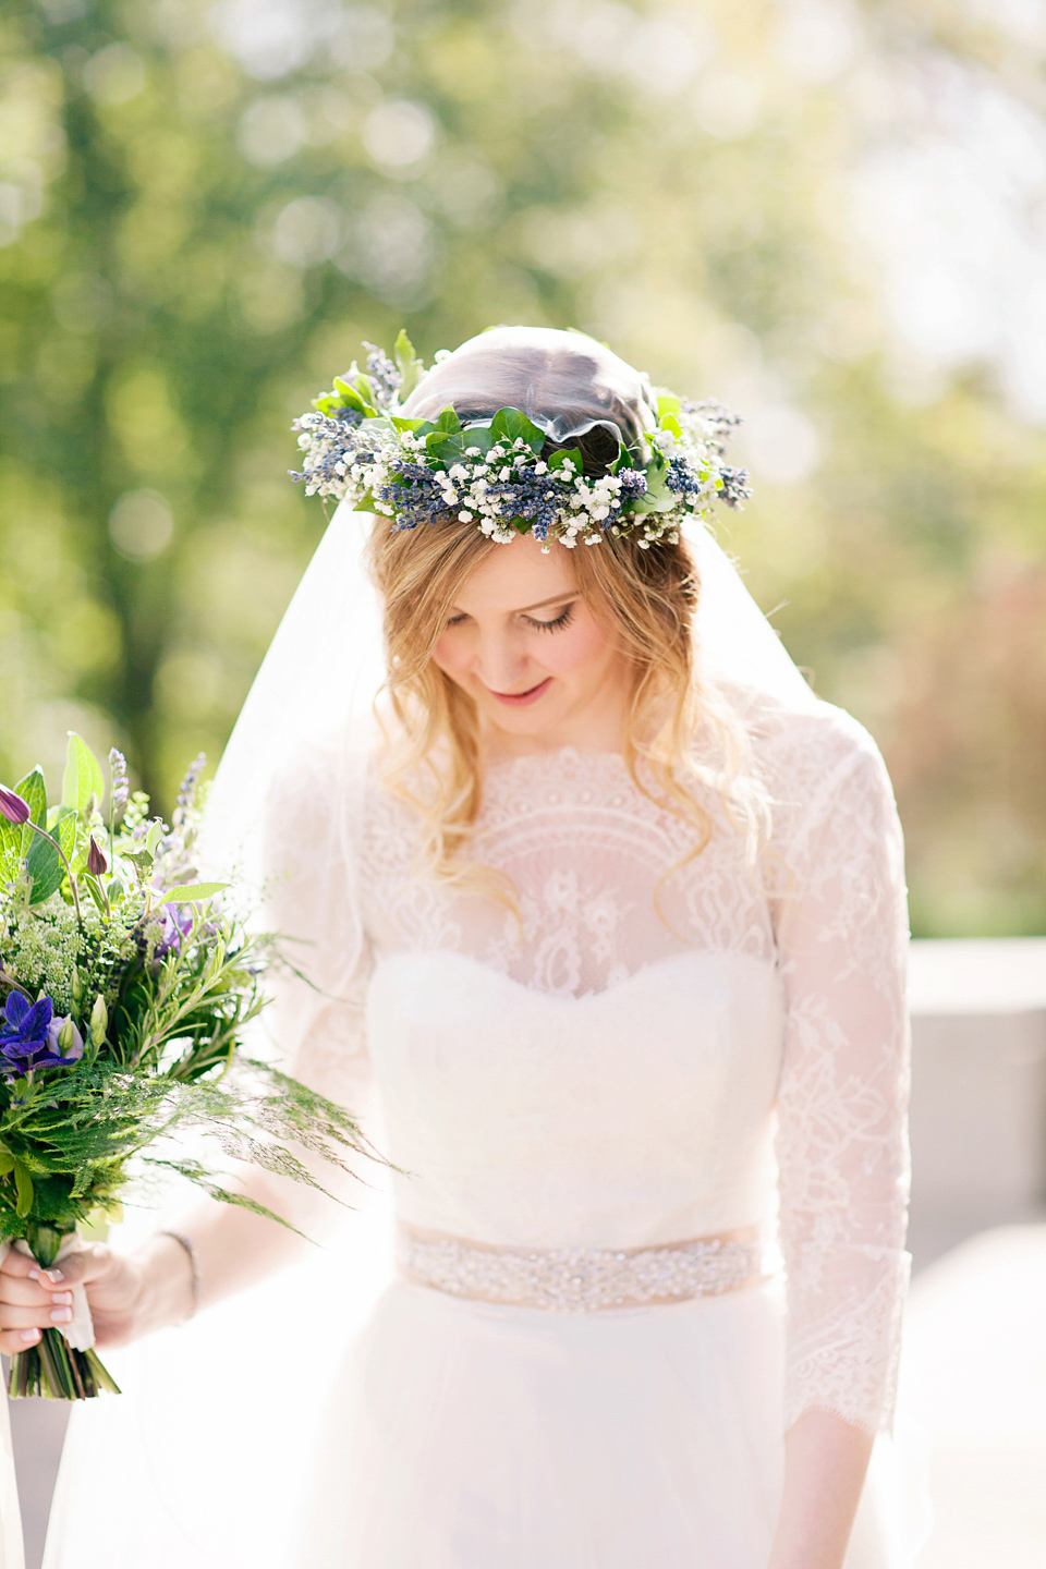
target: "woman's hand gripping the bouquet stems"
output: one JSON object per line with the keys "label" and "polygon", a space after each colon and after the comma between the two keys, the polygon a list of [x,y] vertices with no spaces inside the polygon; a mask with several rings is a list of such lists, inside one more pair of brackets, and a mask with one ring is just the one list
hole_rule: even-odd
{"label": "woman's hand gripping the bouquet stems", "polygon": [[133,1255],[86,1243],[50,1269],[11,1249],[0,1265],[0,1351],[14,1356],[36,1345],[41,1331],[63,1329],[75,1285],[88,1293],[99,1346],[127,1345],[188,1318],[193,1307],[191,1265],[171,1236],[154,1236]]}

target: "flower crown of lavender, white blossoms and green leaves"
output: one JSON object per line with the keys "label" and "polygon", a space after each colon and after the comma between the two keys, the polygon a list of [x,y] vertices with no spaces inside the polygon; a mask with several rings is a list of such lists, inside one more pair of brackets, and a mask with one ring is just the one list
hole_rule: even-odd
{"label": "flower crown of lavender, white blossoms and green leaves", "polygon": [[[607,472],[588,479],[580,449],[544,457],[547,433],[518,408],[466,425],[453,408],[436,420],[406,419],[401,403],[425,375],[411,340],[400,333],[395,362],[364,347],[365,373],[353,361],[334,391],[314,399],[315,413],[293,422],[304,460],[290,474],[307,496],[348,501],[395,529],[456,519],[503,544],[533,533],[547,551],[549,540],[599,544],[605,532],[637,535],[641,549],[674,543],[681,524],[707,515],[715,499],[739,507],[751,494],[745,469],[723,463],[739,419],[718,403],[660,392],[656,428],[623,442]],[[436,362],[445,358],[439,350]]]}

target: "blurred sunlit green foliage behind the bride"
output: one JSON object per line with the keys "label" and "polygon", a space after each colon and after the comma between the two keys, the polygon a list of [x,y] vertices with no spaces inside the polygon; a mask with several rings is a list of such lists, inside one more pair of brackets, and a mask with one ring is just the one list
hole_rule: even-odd
{"label": "blurred sunlit green foliage behind the bride", "polygon": [[323,529],[290,419],[403,323],[742,410],[723,526],[886,753],[922,935],[1046,932],[1038,0],[5,0],[0,777],[168,803]]}

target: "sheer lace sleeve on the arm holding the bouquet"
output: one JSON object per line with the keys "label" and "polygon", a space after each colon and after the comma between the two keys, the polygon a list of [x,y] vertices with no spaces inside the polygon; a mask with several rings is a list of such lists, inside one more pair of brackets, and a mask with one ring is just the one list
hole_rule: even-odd
{"label": "sheer lace sleeve on the arm holding the bouquet", "polygon": [[342,774],[321,758],[278,781],[265,827],[265,924],[284,962],[265,1023],[287,1070],[362,1116],[370,1089],[364,999],[370,948],[361,929],[351,846],[342,832]]}

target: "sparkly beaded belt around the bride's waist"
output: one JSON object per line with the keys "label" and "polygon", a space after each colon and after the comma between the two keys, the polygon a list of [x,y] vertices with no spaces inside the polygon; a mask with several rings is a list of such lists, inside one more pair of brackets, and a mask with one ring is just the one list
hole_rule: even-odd
{"label": "sparkly beaded belt around the bride's waist", "polygon": [[505,1307],[594,1313],[720,1296],[759,1276],[762,1244],[707,1236],[662,1247],[483,1247],[398,1227],[398,1261],[420,1285]]}

